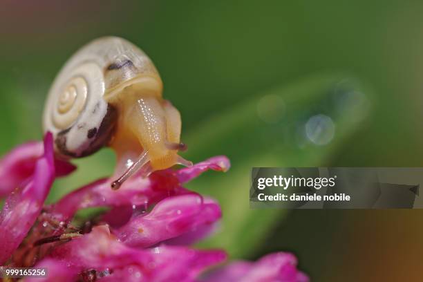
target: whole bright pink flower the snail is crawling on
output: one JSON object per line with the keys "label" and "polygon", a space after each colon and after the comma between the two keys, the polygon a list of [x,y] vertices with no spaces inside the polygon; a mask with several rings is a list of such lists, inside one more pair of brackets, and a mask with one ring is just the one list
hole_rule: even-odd
{"label": "whole bright pink flower the snail is crawling on", "polygon": [[[56,177],[75,167],[55,160],[48,133],[0,160],[0,263],[45,267],[48,276],[27,281],[308,281],[292,254],[276,253],[256,263],[223,263],[222,250],[194,250],[222,216],[216,200],[183,187],[204,171],[226,171],[224,156],[179,170],[135,175],[119,190],[104,178],[76,189],[53,205],[44,200]],[[109,212],[75,227],[75,212],[109,207]]]}

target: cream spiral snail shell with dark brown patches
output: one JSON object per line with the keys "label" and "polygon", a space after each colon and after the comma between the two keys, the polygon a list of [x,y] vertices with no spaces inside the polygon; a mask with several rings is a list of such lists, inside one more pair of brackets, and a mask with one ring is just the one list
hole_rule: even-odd
{"label": "cream spiral snail shell with dark brown patches", "polygon": [[84,157],[106,145],[117,115],[109,100],[146,75],[158,77],[155,93],[161,96],[156,67],[125,39],[103,37],[78,50],[55,78],[44,107],[44,132],[53,133],[59,156]]}

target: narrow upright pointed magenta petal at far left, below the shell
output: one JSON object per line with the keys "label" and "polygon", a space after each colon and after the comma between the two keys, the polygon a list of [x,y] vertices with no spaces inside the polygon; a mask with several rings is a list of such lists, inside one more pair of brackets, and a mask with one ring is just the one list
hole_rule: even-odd
{"label": "narrow upright pointed magenta petal at far left, below the shell", "polygon": [[55,178],[53,137],[44,138],[44,156],[35,163],[28,184],[6,199],[0,214],[0,264],[19,246],[41,212],[42,205]]}

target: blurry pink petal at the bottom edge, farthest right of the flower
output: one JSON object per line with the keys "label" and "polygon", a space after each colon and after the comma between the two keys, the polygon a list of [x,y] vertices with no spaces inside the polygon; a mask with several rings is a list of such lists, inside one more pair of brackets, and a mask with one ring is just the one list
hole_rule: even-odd
{"label": "blurry pink petal at the bottom edge, farthest right of the flower", "polygon": [[297,258],[293,254],[278,252],[263,256],[255,263],[230,263],[209,275],[205,281],[308,282],[309,279],[297,270]]}

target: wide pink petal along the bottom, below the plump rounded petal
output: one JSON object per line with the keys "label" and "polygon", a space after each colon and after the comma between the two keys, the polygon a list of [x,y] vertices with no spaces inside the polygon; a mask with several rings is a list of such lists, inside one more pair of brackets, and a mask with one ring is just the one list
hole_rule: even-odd
{"label": "wide pink petal along the bottom, below the plump rounded petal", "polygon": [[[187,281],[206,267],[223,261],[226,254],[187,247],[135,249],[118,241],[109,232],[109,227],[103,225],[94,227],[91,233],[81,238],[59,245],[51,256],[79,271],[110,269],[112,274],[102,278],[104,281],[131,281],[133,275],[145,277],[148,281]],[[130,267],[132,270],[129,270]]]}

